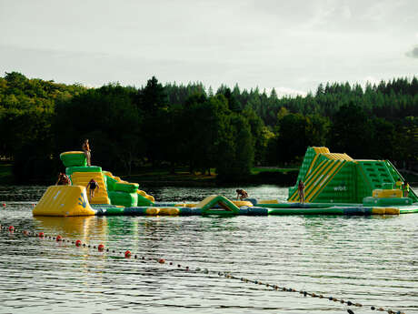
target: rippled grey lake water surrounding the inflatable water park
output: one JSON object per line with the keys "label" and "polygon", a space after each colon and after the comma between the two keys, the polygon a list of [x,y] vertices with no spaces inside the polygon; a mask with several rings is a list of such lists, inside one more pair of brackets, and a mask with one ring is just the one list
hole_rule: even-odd
{"label": "rippled grey lake water surrounding the inflatable water park", "polygon": [[[287,189],[244,187],[252,198],[285,200]],[[0,187],[0,224],[116,250],[0,232],[1,313],[418,313],[418,215],[398,217],[33,218],[46,187]],[[159,201],[234,197],[234,187],[145,189]],[[230,272],[280,287],[351,300],[276,291],[216,273],[123,258],[130,249],[174,265]]]}

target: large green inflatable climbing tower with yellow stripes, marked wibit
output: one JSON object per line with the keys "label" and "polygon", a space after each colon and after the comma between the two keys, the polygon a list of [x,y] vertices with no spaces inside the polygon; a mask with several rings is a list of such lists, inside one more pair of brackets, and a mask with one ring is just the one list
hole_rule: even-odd
{"label": "large green inflatable climbing tower with yellow stripes, marked wibit", "polygon": [[[364,198],[376,193],[402,198],[402,191],[393,189],[398,178],[404,181],[389,160],[359,160],[331,153],[327,147],[308,147],[297,182],[289,187],[288,201],[300,201],[300,180],[304,181],[307,203],[363,203]],[[412,189],[409,198],[418,201]]]}

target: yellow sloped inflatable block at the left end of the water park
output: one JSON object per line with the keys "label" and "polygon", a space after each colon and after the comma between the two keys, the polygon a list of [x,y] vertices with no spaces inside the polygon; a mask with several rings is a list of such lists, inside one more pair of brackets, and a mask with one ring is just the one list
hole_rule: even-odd
{"label": "yellow sloped inflatable block at the left end of the water park", "polygon": [[52,186],[33,210],[34,216],[91,216],[95,210],[90,207],[85,187]]}

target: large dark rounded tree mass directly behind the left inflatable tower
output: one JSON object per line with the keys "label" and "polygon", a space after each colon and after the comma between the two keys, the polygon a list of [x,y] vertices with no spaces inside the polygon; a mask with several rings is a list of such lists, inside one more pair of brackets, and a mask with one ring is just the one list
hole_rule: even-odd
{"label": "large dark rounded tree mass directly behind the left inflatable tower", "polygon": [[88,138],[97,165],[130,173],[134,158],[144,154],[141,110],[129,87],[107,85],[58,103],[54,119],[57,152],[81,150]]}

